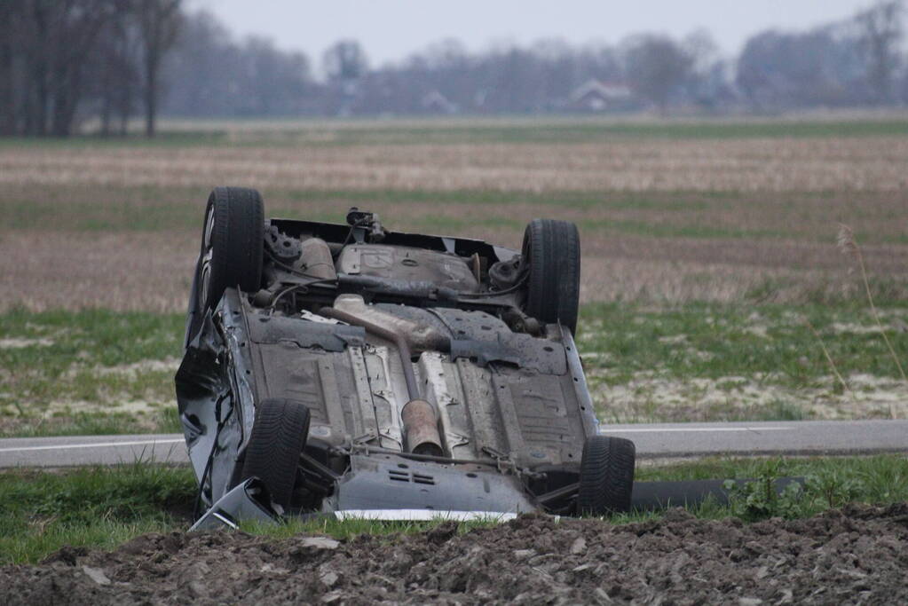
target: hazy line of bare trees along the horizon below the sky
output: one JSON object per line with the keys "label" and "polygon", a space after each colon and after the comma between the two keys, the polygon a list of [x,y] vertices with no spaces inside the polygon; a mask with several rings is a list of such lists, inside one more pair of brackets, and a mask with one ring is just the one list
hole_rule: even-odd
{"label": "hazy line of bare trees along the horizon below the sky", "polygon": [[[432,44],[370,65],[356,41],[313,67],[268,38],[237,39],[181,0],[0,2],[0,134],[67,136],[94,120],[574,111],[778,112],[908,102],[902,0],[809,31],[760,32],[733,58],[707,31],[618,44],[544,40],[470,53]],[[318,72],[318,73],[316,73]]]}

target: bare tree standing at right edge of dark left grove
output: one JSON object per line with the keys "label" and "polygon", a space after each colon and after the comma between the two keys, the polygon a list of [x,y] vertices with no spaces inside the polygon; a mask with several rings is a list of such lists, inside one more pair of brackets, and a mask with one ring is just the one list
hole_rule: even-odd
{"label": "bare tree standing at right edge of dark left grove", "polygon": [[161,64],[176,42],[182,13],[181,0],[136,0],[135,11],[142,45],[145,135],[153,137],[161,95]]}

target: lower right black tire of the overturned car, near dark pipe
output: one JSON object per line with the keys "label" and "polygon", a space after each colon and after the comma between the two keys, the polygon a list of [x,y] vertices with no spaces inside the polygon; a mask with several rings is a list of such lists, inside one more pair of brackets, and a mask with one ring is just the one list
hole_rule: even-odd
{"label": "lower right black tire of the overturned car, near dark pipe", "polygon": [[591,435],[583,446],[577,513],[608,515],[630,511],[634,490],[634,443],[620,437]]}

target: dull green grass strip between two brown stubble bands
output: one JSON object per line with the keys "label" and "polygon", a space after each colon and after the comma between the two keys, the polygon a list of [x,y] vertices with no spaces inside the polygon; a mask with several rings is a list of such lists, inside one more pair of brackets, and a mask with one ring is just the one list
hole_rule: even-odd
{"label": "dull green grass strip between two brown stubble bands", "polygon": [[[0,233],[35,232],[54,224],[67,233],[199,230],[208,189],[155,185],[12,186],[0,193],[5,222]],[[344,222],[350,206],[382,214],[390,229],[437,229],[446,233],[496,229],[522,234],[534,216],[575,220],[585,238],[643,236],[655,239],[768,239],[831,244],[834,222],[822,212],[854,220],[869,245],[903,243],[898,218],[901,195],[865,192],[861,212],[854,200],[829,192],[787,192],[770,199],[744,191],[445,191],[403,189],[264,190],[269,215]],[[482,210],[464,213],[464,210]],[[405,210],[401,213],[400,210]],[[755,212],[755,210],[759,210]],[[515,216],[517,214],[518,216]]]}

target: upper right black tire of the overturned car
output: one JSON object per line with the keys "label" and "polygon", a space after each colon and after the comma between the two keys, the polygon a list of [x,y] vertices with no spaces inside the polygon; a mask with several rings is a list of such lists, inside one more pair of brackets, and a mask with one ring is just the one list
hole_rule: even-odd
{"label": "upper right black tire of the overturned car", "polygon": [[577,333],[580,303],[580,234],[568,221],[534,219],[523,236],[528,264],[528,316],[547,324],[560,322]]}

